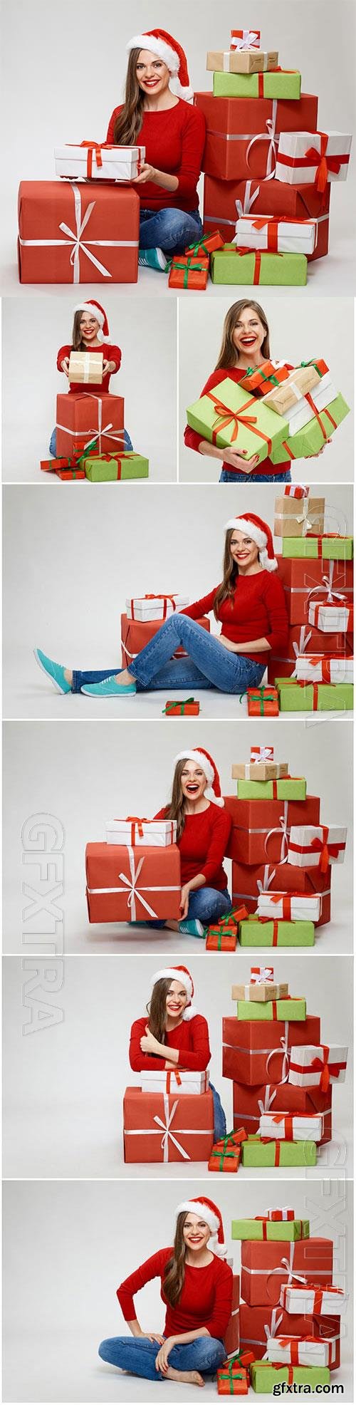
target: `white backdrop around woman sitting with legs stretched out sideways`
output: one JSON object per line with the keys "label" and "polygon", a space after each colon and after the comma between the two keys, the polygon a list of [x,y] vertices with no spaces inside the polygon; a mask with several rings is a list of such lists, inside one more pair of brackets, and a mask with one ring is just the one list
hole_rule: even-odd
{"label": "white backdrop around woman sitting with legs stretched out sideways", "polygon": [[[71,483],[70,511],[66,493],[59,493],[53,513],[41,485],[4,488],[4,715],[161,718],[163,691],[119,700],[63,697],[39,672],[32,648],[69,667],[119,666],[126,597],[181,590],[198,600],[217,586],[226,523],[251,510],[251,489],[227,483],[221,493],[212,485],[203,496],[188,485],[151,485],[144,495],[140,483],[121,483],[119,492],[118,483],[107,483],[105,493],[102,485],[84,495],[81,489]],[[325,496],[341,530],[352,531],[352,489],[334,485]],[[275,497],[259,486],[259,514],[272,528]],[[200,691],[203,719],[245,712],[245,697],[240,702],[237,695]]]}

